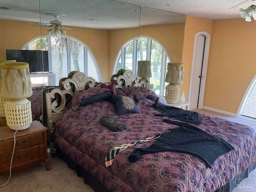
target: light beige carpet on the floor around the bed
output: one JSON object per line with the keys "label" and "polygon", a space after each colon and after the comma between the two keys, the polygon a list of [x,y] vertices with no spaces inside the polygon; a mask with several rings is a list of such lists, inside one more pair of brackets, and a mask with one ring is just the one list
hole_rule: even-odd
{"label": "light beige carpet on the floor around the bed", "polygon": [[[256,128],[255,122],[241,118],[234,118],[208,110],[196,110],[199,113],[217,116],[219,118],[240,122]],[[51,170],[46,171],[45,164],[35,164],[25,170],[13,170],[8,184],[0,187],[0,192],[94,192],[92,188],[84,184],[84,179],[76,175],[74,170],[58,157],[52,158]],[[0,185],[6,183],[9,173],[0,176]],[[256,170],[233,190],[233,192],[255,192]]]}

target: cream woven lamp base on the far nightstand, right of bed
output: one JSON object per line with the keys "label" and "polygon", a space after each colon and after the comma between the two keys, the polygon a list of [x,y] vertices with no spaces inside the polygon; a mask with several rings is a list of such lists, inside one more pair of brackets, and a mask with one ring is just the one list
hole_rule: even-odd
{"label": "cream woven lamp base on the far nightstand, right of bed", "polygon": [[165,100],[168,103],[177,103],[180,96],[180,86],[178,84],[168,84],[165,87]]}

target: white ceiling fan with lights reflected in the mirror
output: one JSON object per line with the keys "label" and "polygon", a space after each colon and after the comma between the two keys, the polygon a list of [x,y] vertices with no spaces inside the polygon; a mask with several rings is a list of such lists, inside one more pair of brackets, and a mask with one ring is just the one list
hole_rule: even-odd
{"label": "white ceiling fan with lights reflected in the mirror", "polygon": [[[64,28],[64,29],[68,29],[70,30],[70,28],[66,28],[65,26],[63,26],[63,22],[57,20],[59,17],[64,17],[64,14],[59,14],[59,13],[48,13],[48,16],[53,16],[55,18],[55,20],[50,21],[50,23],[40,23],[38,25],[32,25],[34,27],[54,27],[54,29],[49,29],[47,30],[47,32],[49,34],[51,34],[51,32],[53,32],[55,37],[59,37],[60,34],[62,35],[66,35],[66,31],[64,30],[60,30],[59,28]],[[45,20],[45,18],[44,18]],[[43,21],[44,21],[43,20]]]}

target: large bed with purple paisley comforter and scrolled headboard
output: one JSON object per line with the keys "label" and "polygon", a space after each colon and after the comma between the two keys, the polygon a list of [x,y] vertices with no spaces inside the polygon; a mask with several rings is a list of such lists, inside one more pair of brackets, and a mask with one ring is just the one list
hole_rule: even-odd
{"label": "large bed with purple paisley comforter and scrolled headboard", "polygon": [[[159,136],[181,127],[169,121],[184,123],[179,118],[159,116],[162,113],[156,106],[162,104],[146,86],[147,82],[141,82],[130,70],[118,71],[105,88],[82,72],[71,72],[60,80],[60,89],[45,94],[47,126],[56,155],[95,192],[231,192],[256,167],[254,130],[205,114],[197,114],[202,123],[186,125],[230,146],[230,151],[210,166],[195,154],[177,151],[147,153],[131,162],[136,149],[149,149]],[[106,99],[105,93],[114,91],[116,96]],[[104,99],[92,99],[95,95]],[[125,128],[116,131],[104,126],[100,120],[106,116]],[[113,155],[113,149],[131,143]]]}

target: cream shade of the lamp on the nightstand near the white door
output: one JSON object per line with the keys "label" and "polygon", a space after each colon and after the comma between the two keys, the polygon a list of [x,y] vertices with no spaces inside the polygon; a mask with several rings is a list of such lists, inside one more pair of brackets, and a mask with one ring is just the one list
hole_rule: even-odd
{"label": "cream shade of the lamp on the nightstand near the white door", "polygon": [[168,63],[165,82],[170,84],[183,83],[184,64],[182,63]]}

